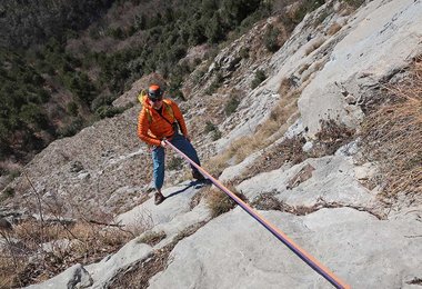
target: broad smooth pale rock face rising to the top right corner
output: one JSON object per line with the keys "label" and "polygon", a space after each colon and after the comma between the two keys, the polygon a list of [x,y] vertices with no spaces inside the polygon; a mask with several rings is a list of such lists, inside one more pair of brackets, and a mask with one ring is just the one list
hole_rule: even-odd
{"label": "broad smooth pale rock face rising to the top right corner", "polygon": [[359,99],[421,54],[421,14],[420,1],[371,1],[350,19],[339,31],[345,37],[299,100],[310,134],[318,131],[321,119],[359,124],[363,118]]}

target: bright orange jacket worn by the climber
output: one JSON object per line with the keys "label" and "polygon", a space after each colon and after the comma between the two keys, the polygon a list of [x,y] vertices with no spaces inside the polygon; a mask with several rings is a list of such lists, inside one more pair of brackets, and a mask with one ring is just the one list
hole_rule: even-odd
{"label": "bright orange jacket worn by the climber", "polygon": [[[164,103],[165,102],[165,103]],[[142,98],[142,110],[138,117],[138,137],[152,146],[160,146],[163,138],[170,138],[174,134],[173,127],[163,119],[163,117],[169,120],[171,123],[174,122],[174,119],[179,122],[179,127],[183,136],[188,136],[187,123],[184,122],[182,112],[178,104],[170,100],[164,99],[161,107],[160,113],[153,109],[148,101],[148,97]],[[169,109],[165,109],[165,106],[170,106],[173,116],[169,113]]]}

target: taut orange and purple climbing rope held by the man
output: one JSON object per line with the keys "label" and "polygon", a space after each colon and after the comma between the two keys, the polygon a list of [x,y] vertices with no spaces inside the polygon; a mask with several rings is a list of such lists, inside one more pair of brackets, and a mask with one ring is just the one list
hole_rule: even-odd
{"label": "taut orange and purple climbing rope held by the man", "polygon": [[183,157],[189,163],[195,167],[203,176],[205,176],[212,183],[215,185],[219,189],[225,192],[230,198],[232,198],[243,210],[245,210],[252,218],[254,218],[258,222],[260,222],[265,229],[268,229],[275,238],[278,238],[281,242],[283,242],[290,250],[292,250],[299,258],[301,258],[305,263],[308,263],[313,270],[315,270],[319,275],[324,277],[331,285],[335,288],[349,289],[350,286],[340,280],[333,272],[331,272],[325,266],[319,262],[315,258],[313,258],[305,250],[300,248],[292,239],[290,239],[284,232],[279,230],[274,225],[260,216],[252,207],[242,201],[238,196],[231,192],[228,188],[225,188],[220,181],[213,178],[210,173],[208,173],[204,169],[198,166],[194,161],[192,161],[187,155],[181,152],[178,148],[175,148],[170,141],[164,140],[168,146],[170,146],[175,152],[178,152],[181,157]]}

